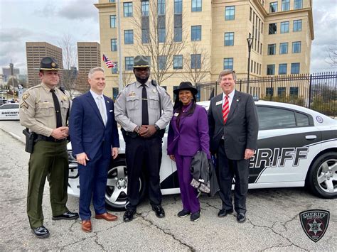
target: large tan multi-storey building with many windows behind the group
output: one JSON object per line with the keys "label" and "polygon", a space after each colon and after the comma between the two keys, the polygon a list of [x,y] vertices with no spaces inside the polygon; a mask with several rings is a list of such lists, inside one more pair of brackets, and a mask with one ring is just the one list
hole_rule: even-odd
{"label": "large tan multi-storey building with many windows behind the group", "polygon": [[[161,85],[172,97],[173,90],[186,81],[189,72],[201,72],[204,76],[197,83],[214,83],[224,69],[235,70],[239,78],[247,77],[247,38],[253,38],[250,77],[303,74],[310,70],[311,40],[314,40],[312,0],[119,2],[121,48],[117,48],[117,4],[113,0],[99,0],[95,4],[100,16],[102,52],[115,61],[118,50],[122,50],[122,64],[118,65],[122,66],[124,78],[133,76],[133,59],[139,52],[151,57],[152,70],[153,67],[161,70],[166,62],[171,62],[166,72],[169,78]],[[154,27],[158,29],[156,33]],[[155,55],[157,58],[139,49],[154,45],[154,39],[159,41],[156,50],[164,52]],[[183,49],[165,55],[165,47],[172,40],[173,44],[183,43]],[[112,96],[112,90],[118,93],[117,69],[107,72],[106,77],[106,94]],[[202,99],[208,99],[209,92],[202,94]]]}

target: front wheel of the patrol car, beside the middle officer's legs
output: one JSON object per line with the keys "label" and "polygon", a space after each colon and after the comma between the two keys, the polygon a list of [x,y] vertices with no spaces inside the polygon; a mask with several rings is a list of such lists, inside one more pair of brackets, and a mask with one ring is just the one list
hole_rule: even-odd
{"label": "front wheel of the patrol car, beside the middle officer's legs", "polygon": [[[107,187],[105,190],[105,203],[108,209],[124,210],[127,204],[127,165],[125,159],[114,160],[107,172]],[[140,199],[145,195],[145,179],[141,174],[139,179]]]}

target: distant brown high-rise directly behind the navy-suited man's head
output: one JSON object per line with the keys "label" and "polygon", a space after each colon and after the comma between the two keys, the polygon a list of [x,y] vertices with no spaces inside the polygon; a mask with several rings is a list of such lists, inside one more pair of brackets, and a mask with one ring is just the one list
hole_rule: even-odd
{"label": "distant brown high-rise directly behind the navy-suited man's head", "polygon": [[92,67],[101,66],[100,43],[77,42],[78,75],[76,89],[85,92],[89,89],[87,74]]}

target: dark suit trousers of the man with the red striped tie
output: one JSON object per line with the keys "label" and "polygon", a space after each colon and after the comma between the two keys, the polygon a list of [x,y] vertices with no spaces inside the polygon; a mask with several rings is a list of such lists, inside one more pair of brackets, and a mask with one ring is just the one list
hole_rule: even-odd
{"label": "dark suit trousers of the man with the red striped tie", "polygon": [[250,160],[230,160],[225,153],[223,141],[221,141],[218,148],[217,160],[219,195],[223,201],[223,209],[233,209],[231,190],[232,180],[235,175],[234,209],[239,214],[245,214]]}

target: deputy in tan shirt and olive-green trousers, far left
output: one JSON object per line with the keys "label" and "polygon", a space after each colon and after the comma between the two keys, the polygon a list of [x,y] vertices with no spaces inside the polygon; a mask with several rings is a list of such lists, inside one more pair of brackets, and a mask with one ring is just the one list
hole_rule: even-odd
{"label": "deputy in tan shirt and olive-green trousers, far left", "polygon": [[49,231],[43,226],[43,187],[48,176],[50,204],[54,220],[77,219],[78,214],[65,206],[68,195],[67,114],[69,98],[56,87],[60,81],[58,63],[43,57],[39,76],[41,84],[22,96],[20,123],[36,133],[36,143],[29,159],[27,214],[31,230],[38,238]]}

